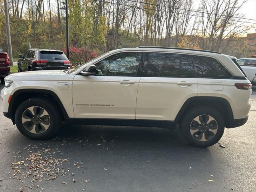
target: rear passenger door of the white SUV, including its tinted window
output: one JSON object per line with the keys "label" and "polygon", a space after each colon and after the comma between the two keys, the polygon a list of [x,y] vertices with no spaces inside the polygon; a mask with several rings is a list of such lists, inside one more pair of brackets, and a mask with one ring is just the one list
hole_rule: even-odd
{"label": "rear passenger door of the white SUV, including its tinted window", "polygon": [[147,52],[141,76],[136,119],[172,121],[198,94],[190,54]]}

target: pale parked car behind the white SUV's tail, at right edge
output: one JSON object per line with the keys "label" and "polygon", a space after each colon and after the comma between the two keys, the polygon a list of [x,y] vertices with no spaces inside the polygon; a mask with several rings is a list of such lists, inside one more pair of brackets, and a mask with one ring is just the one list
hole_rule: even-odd
{"label": "pale parked car behind the white SUV's tail, at right edge", "polygon": [[246,74],[248,80],[256,84],[256,58],[240,58],[236,61]]}

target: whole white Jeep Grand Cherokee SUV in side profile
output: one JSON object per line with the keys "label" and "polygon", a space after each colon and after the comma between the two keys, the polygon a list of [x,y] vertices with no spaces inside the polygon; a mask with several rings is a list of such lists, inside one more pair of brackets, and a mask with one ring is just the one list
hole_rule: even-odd
{"label": "whole white Jeep Grand Cherokee SUV in side profile", "polygon": [[[232,59],[234,61],[232,61]],[[32,139],[74,124],[176,128],[207,147],[248,119],[252,85],[234,57],[166,47],[110,51],[71,70],[9,75],[4,115]]]}

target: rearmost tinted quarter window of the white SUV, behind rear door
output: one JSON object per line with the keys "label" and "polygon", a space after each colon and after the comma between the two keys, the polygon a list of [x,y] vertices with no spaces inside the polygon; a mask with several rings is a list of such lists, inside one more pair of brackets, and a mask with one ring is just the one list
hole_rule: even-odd
{"label": "rearmost tinted quarter window of the white SUV, behind rear door", "polygon": [[205,56],[192,56],[196,77],[231,78],[232,75],[216,59]]}

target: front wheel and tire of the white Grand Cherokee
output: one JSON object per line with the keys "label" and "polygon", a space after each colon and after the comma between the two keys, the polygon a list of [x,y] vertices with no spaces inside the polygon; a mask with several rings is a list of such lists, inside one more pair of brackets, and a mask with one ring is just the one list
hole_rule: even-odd
{"label": "front wheel and tire of the white Grand Cherokee", "polygon": [[31,98],[22,102],[16,110],[15,123],[18,130],[30,139],[48,139],[60,128],[61,115],[53,102],[44,98]]}

